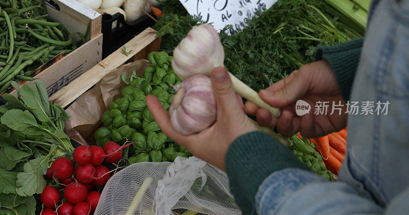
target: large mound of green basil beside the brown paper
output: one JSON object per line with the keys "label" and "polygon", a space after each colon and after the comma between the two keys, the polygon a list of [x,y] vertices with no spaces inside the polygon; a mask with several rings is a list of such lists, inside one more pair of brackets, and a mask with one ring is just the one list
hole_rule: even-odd
{"label": "large mound of green basil beside the brown paper", "polygon": [[[141,77],[133,72],[130,77],[122,75],[129,86],[122,90],[122,98],[109,104],[109,111],[102,115],[106,127],[98,128],[94,139],[99,144],[109,141],[134,144],[129,163],[173,161],[177,156],[190,156],[186,148],[177,145],[161,132],[146,106],[145,96],[156,96],[165,109],[169,109],[174,95],[171,87],[181,82],[172,70],[172,57],[164,51],[151,52],[151,63]],[[133,153],[134,152],[134,153]],[[129,152],[128,152],[129,153]]]}

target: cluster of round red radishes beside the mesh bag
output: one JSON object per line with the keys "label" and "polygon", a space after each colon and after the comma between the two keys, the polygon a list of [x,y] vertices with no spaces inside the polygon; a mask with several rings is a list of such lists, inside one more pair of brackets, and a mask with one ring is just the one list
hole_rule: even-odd
{"label": "cluster of round red radishes beside the mesh bag", "polygon": [[[56,159],[44,177],[54,180],[57,178],[64,189],[61,195],[56,187],[44,187],[40,195],[44,207],[41,214],[93,214],[101,196],[101,193],[93,189],[95,186],[104,186],[111,177],[109,169],[102,162],[119,162],[122,149],[130,144],[120,147],[114,142],[108,142],[102,148],[79,146],[74,150],[74,160],[67,157]],[[62,196],[65,201],[61,203]]]}

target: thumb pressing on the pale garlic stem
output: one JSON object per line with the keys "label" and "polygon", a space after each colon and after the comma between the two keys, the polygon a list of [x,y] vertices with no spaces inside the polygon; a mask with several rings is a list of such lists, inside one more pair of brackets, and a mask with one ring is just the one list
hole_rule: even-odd
{"label": "thumb pressing on the pale garlic stem", "polygon": [[260,98],[274,107],[284,107],[304,96],[308,91],[308,76],[302,70],[292,72],[288,77],[272,85],[270,89],[260,90]]}

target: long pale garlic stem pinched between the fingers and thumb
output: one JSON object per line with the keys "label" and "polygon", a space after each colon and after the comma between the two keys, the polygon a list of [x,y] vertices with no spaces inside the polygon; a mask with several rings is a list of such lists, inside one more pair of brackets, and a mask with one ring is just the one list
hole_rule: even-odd
{"label": "long pale garlic stem pinched between the fingers and thumb", "polygon": [[267,109],[273,116],[275,117],[280,116],[280,109],[276,107],[272,107],[269,104],[267,104],[265,101],[263,101],[260,98],[259,94],[255,90],[248,87],[246,84],[244,84],[240,79],[238,79],[232,73],[229,72],[229,75],[230,75],[230,78],[232,79],[234,91],[236,91],[236,93],[243,96],[247,100],[253,102],[257,106],[262,107],[263,109]]}

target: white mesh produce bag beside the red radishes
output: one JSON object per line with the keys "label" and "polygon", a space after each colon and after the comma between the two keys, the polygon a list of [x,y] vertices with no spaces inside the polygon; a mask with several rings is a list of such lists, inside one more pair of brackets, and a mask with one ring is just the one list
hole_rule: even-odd
{"label": "white mesh produce bag beside the red radishes", "polygon": [[[132,210],[132,201],[135,206],[139,200]],[[162,215],[178,208],[205,214],[241,214],[225,172],[196,157],[126,167],[106,183],[95,214]]]}

